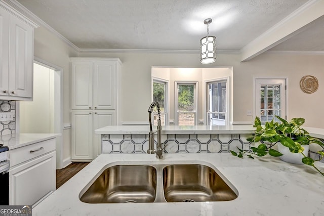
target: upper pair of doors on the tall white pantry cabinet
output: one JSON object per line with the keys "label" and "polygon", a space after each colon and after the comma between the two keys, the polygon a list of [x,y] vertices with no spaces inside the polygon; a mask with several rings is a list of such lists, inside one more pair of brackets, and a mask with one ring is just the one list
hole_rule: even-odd
{"label": "upper pair of doors on the tall white pantry cabinet", "polygon": [[70,61],[72,110],[116,109],[120,60],[117,58],[70,58]]}

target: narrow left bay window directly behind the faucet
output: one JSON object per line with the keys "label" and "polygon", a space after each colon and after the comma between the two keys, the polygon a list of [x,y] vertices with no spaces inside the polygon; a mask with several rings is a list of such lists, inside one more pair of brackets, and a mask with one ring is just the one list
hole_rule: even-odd
{"label": "narrow left bay window directly behind the faucet", "polygon": [[[160,114],[161,114],[161,125],[167,125],[167,110],[168,110],[168,103],[167,103],[167,88],[168,82],[161,81],[161,80],[153,80],[153,101],[157,101],[160,105]],[[157,125],[157,110],[156,107],[154,108],[154,125]]]}

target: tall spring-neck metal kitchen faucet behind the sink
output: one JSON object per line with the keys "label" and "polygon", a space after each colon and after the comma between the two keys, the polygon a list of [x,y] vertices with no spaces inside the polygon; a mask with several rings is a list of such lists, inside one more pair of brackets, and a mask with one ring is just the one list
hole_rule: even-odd
{"label": "tall spring-neck metal kitchen faucet behind the sink", "polygon": [[[153,112],[153,108],[156,107],[157,109],[157,129],[156,131],[153,131],[152,128],[152,120],[151,120],[151,114]],[[163,158],[163,150],[167,147],[165,145],[163,147],[163,144],[161,143],[161,132],[162,132],[162,126],[161,126],[161,113],[160,113],[160,105],[154,101],[151,103],[150,107],[148,108],[148,121],[150,123],[150,132],[148,136],[148,149],[147,153],[148,154],[155,154],[156,153],[156,158],[162,159]],[[154,134],[157,132],[157,143],[156,143],[156,150],[154,149]]]}

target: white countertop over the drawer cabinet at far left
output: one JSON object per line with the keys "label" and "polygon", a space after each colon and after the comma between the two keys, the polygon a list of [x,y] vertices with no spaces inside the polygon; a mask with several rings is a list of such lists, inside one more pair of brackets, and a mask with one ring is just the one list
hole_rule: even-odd
{"label": "white countertop over the drawer cabinet at far left", "polygon": [[9,150],[42,142],[61,136],[61,134],[8,134],[0,136],[0,143],[9,147]]}

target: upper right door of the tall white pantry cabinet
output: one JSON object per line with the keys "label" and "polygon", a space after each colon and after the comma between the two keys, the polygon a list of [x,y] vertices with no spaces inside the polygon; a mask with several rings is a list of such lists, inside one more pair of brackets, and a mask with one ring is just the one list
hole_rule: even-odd
{"label": "upper right door of the tall white pantry cabinet", "polygon": [[94,62],[94,109],[115,109],[116,63]]}

